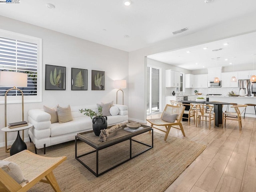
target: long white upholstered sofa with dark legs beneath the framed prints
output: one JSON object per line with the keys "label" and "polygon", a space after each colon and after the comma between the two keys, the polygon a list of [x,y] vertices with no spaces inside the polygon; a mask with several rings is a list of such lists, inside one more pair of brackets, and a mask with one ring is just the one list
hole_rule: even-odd
{"label": "long white upholstered sofa with dark legs beneath the framed prints", "polygon": [[[119,113],[114,116],[107,116],[108,126],[115,125],[128,120],[128,107],[125,105],[117,105]],[[79,109],[92,109],[97,111],[97,105],[70,106],[73,121],[66,123],[50,122],[51,115],[42,109],[31,109],[28,111],[28,122],[33,126],[28,130],[30,142],[35,145],[36,149],[68,142],[75,139],[77,133],[92,130],[92,120],[90,117],[79,112]]]}

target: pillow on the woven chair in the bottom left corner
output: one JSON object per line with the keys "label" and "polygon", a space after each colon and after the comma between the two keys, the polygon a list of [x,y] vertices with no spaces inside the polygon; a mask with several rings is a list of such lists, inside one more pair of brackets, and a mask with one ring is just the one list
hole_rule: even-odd
{"label": "pillow on the woven chair in the bottom left corner", "polygon": [[0,168],[10,175],[18,184],[28,182],[28,180],[24,178],[20,167],[16,163],[0,160]]}

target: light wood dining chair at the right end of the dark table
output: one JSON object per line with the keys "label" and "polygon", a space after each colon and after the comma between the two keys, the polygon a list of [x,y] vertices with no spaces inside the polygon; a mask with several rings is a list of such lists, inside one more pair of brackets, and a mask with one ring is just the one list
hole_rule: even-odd
{"label": "light wood dining chair at the right end of the dark table", "polygon": [[242,113],[240,112],[240,110],[243,109],[242,112],[244,112],[246,107],[247,105],[233,105],[231,106],[231,108],[234,108],[236,112],[229,112],[229,111],[222,112],[222,127],[224,124],[226,125],[226,120],[235,120],[235,121],[238,121],[239,130],[242,130],[242,118],[241,118]]}

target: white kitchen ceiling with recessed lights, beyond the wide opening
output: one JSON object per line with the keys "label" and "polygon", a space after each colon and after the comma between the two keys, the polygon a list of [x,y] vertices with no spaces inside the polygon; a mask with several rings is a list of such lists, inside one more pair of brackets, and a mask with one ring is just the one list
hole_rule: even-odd
{"label": "white kitchen ceiling with recessed lights, beyond the wide opening", "polygon": [[[225,45],[228,43],[227,45]],[[204,49],[207,48],[207,49]],[[189,53],[188,53],[189,52]],[[256,64],[256,32],[164,52],[148,58],[187,70]],[[255,66],[256,69],[256,66]]]}

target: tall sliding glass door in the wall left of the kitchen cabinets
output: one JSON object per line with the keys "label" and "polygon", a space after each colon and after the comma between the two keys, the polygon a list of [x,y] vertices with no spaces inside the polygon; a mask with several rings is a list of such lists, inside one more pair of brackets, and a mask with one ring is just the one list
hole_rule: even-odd
{"label": "tall sliding glass door in the wall left of the kitchen cabinets", "polygon": [[147,114],[159,112],[160,68],[147,67]]}

